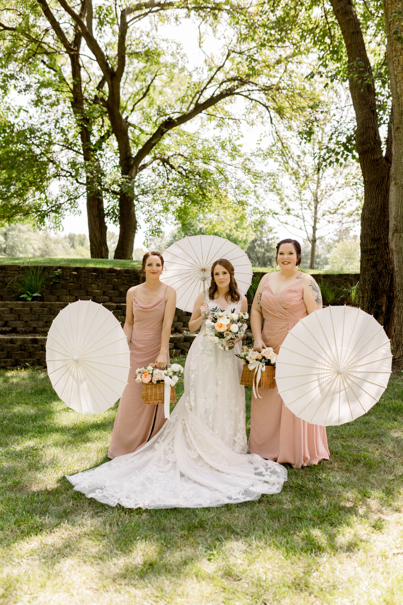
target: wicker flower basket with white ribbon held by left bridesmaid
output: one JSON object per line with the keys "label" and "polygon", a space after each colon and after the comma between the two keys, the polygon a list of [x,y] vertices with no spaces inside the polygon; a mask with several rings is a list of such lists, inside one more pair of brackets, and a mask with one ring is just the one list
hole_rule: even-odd
{"label": "wicker flower basket with white ribbon held by left bridesmaid", "polygon": [[183,368],[179,364],[170,364],[166,368],[156,368],[155,364],[137,368],[136,382],[141,382],[141,401],[143,404],[164,404],[165,417],[169,419],[169,404],[176,402],[175,384]]}

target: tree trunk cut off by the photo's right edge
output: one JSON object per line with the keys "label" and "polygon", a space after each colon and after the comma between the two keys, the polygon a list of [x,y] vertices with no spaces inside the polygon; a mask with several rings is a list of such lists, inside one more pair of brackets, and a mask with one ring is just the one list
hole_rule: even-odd
{"label": "tree trunk cut off by the photo's right edge", "polygon": [[392,18],[400,6],[395,0],[385,0],[385,30],[387,62],[392,91],[392,166],[389,192],[389,246],[392,256],[395,286],[395,325],[392,335],[393,361],[403,368],[403,45],[391,34],[402,27],[401,19]]}

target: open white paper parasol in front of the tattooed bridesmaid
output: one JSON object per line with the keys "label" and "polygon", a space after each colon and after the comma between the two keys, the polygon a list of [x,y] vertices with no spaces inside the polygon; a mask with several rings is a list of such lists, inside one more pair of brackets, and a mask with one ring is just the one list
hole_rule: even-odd
{"label": "open white paper parasol in front of the tattooed bridesmaid", "polygon": [[390,341],[372,315],[327,307],[298,321],[280,347],[276,383],[303,420],[340,425],[365,414],[392,371]]}

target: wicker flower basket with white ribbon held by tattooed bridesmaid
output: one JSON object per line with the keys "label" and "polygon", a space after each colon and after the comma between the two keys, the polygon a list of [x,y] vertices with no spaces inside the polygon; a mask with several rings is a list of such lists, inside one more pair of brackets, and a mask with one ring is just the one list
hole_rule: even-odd
{"label": "wicker flower basket with white ribbon held by tattooed bridesmaid", "polygon": [[255,386],[256,390],[258,387],[274,388],[274,366],[277,355],[271,347],[264,348],[262,353],[254,351],[253,348],[242,347],[240,355],[237,357],[243,364],[240,384],[252,387],[255,397],[260,397],[259,392],[255,391]]}

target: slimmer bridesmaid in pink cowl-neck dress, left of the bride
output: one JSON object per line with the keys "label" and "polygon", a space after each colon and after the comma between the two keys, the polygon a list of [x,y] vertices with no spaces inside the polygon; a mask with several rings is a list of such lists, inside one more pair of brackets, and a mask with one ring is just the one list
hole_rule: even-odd
{"label": "slimmer bridesmaid in pink cowl-neck dress, left of the bride", "polygon": [[141,383],[135,371],[155,363],[169,364],[169,337],[175,315],[176,292],[160,281],[164,259],[160,252],[146,252],[141,264],[146,281],[127,290],[123,331],[130,349],[130,370],[120,397],[108,457],[130,454],[149,441],[165,422],[164,405],[141,401]]}

